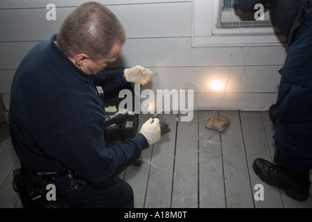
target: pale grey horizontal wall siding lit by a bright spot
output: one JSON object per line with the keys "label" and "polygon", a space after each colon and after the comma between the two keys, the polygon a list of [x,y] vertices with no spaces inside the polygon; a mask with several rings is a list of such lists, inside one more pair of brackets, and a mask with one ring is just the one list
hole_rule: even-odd
{"label": "pale grey horizontal wall siding lit by a bright spot", "polygon": [[[83,2],[1,1],[0,92],[7,108],[12,76],[21,59],[35,44],[57,33],[63,19]],[[268,110],[275,103],[284,46],[192,48],[192,1],[98,2],[110,8],[127,31],[121,56],[110,67],[142,65],[155,73],[142,90],[194,89],[196,110]],[[46,19],[48,3],[57,7],[56,21]],[[214,92],[209,87],[214,78],[227,83],[226,89]]]}

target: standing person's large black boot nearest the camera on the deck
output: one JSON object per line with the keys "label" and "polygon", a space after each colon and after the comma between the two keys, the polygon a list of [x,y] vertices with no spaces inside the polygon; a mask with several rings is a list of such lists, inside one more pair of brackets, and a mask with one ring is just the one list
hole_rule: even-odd
{"label": "standing person's large black boot nearest the camera on the deck", "polygon": [[291,198],[299,201],[309,198],[309,171],[297,173],[261,158],[254,160],[252,168],[263,182],[284,190]]}

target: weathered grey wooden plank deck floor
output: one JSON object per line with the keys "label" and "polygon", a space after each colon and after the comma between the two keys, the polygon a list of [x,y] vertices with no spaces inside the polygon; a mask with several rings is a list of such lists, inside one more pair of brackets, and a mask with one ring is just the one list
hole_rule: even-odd
{"label": "weathered grey wooden plank deck floor", "polygon": [[[231,121],[222,133],[205,128],[205,121],[216,115]],[[140,125],[150,117],[141,114]],[[312,196],[305,202],[293,200],[259,180],[252,169],[255,158],[272,160],[274,155],[268,112],[198,111],[189,123],[177,122],[177,114],[158,117],[171,132],[142,153],[140,167],[132,165],[120,175],[134,190],[136,208],[312,208]],[[2,130],[0,207],[22,207],[12,190],[17,167],[8,130]],[[254,198],[257,184],[263,185],[264,200]]]}

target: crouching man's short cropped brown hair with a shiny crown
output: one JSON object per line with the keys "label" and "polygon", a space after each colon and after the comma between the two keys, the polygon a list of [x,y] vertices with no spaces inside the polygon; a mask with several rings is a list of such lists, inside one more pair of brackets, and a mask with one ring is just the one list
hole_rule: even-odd
{"label": "crouching man's short cropped brown hair with a shiny crown", "polygon": [[114,44],[125,44],[126,32],[110,9],[90,1],[64,19],[56,40],[67,56],[86,53],[97,61],[110,53]]}

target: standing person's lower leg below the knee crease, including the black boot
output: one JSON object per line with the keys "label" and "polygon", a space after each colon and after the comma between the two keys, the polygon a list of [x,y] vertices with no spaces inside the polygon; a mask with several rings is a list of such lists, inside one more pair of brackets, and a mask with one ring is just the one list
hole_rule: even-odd
{"label": "standing person's lower leg below the knee crease, including the black boot", "polygon": [[286,191],[295,200],[309,198],[309,169],[312,167],[312,87],[302,87],[281,78],[275,105],[274,162],[254,160],[261,180]]}

